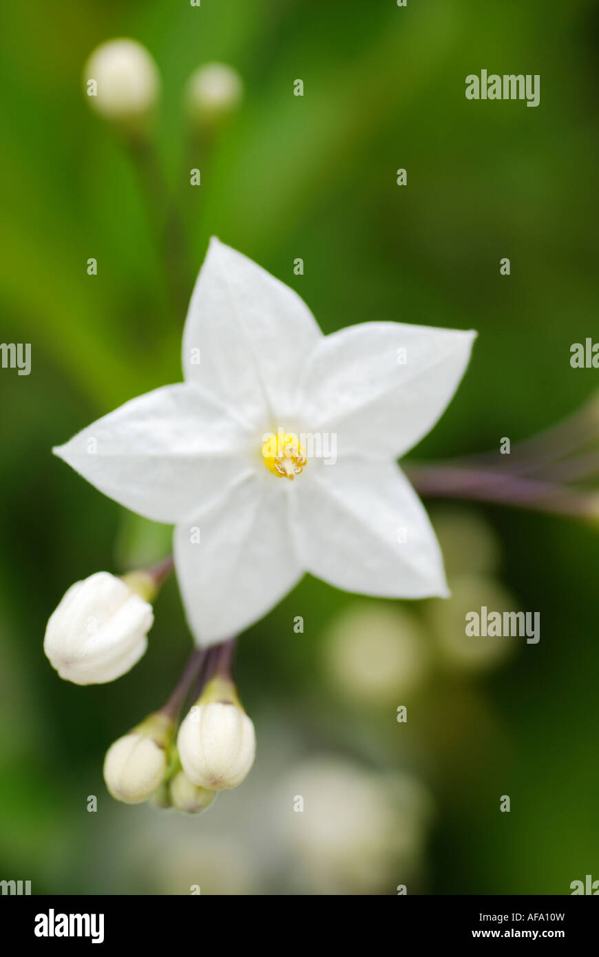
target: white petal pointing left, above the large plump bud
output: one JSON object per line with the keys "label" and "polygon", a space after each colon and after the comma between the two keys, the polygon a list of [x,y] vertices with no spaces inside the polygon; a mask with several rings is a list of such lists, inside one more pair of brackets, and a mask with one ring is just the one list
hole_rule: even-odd
{"label": "white petal pointing left, above the large plump bud", "polygon": [[155,522],[181,522],[251,471],[248,434],[200,389],[164,386],[55,449],[104,495]]}

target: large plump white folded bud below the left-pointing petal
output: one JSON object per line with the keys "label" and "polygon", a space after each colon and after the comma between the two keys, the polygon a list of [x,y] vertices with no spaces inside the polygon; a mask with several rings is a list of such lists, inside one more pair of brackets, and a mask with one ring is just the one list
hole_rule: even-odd
{"label": "large plump white folded bud below the left-pointing petal", "polygon": [[144,598],[121,578],[98,571],[66,592],[48,622],[44,652],[60,678],[103,684],[144,655],[153,621]]}

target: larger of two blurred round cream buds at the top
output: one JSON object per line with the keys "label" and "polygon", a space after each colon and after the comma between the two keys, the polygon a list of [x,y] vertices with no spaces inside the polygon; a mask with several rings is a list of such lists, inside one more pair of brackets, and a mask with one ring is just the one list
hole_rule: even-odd
{"label": "larger of two blurred round cream buds at the top", "polygon": [[[95,86],[92,83],[95,80]],[[142,117],[158,98],[158,68],[137,40],[107,40],[83,67],[85,96],[90,106],[109,120]]]}

